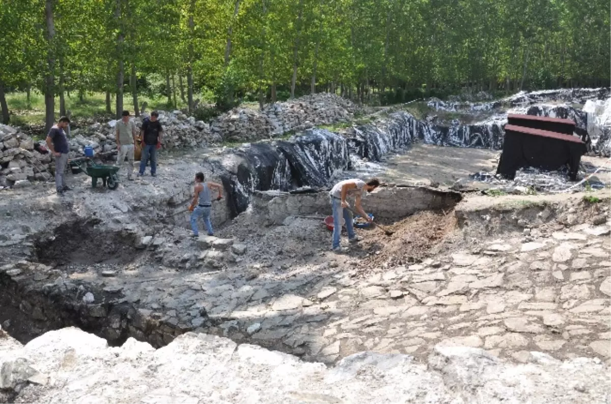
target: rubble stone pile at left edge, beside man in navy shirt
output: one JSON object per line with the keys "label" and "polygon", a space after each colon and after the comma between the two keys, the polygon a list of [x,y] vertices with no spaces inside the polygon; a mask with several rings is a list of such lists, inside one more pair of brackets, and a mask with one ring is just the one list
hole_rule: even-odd
{"label": "rubble stone pile at left edge, beside man in navy shirt", "polygon": [[0,190],[23,187],[30,181],[46,181],[51,153],[38,151],[31,137],[11,126],[0,124]]}

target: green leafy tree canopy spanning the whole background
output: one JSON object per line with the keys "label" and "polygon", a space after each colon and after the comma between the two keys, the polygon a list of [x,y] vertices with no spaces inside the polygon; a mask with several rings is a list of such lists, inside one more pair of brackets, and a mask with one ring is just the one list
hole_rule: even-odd
{"label": "green leafy tree canopy spanning the whole background", "polygon": [[107,92],[118,111],[125,91],[137,110],[151,74],[169,101],[186,79],[189,109],[203,89],[230,107],[608,85],[610,40],[608,0],[0,0],[0,101]]}

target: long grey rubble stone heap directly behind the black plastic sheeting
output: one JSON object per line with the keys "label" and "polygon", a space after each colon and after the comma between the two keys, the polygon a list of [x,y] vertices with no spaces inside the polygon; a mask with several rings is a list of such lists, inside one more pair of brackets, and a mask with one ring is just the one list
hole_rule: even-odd
{"label": "long grey rubble stone heap directly behind the black plastic sheeting", "polygon": [[211,124],[213,133],[232,142],[253,141],[281,136],[317,125],[348,121],[358,107],[340,96],[319,93],[275,103],[263,111],[233,109]]}

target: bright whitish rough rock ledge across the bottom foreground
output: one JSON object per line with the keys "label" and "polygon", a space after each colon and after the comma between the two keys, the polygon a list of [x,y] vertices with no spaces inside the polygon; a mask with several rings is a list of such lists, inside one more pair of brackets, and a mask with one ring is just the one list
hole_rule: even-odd
{"label": "bright whitish rough rock ledge across the bottom foreground", "polygon": [[64,328],[26,345],[0,336],[0,403],[611,403],[599,359],[526,355],[437,345],[428,363],[364,352],[327,368],[207,334],[155,350]]}

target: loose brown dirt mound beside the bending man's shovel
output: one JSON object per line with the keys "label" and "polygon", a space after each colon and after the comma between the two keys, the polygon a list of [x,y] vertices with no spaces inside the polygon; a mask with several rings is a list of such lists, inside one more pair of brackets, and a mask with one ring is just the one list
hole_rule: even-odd
{"label": "loose brown dirt mound beside the bending man's shovel", "polygon": [[384,226],[394,234],[387,236],[378,226],[367,231],[362,246],[368,251],[362,267],[375,268],[420,262],[435,252],[435,247],[456,228],[453,212],[425,211]]}

